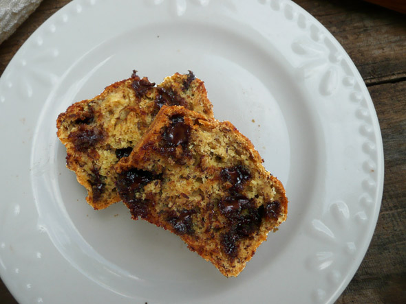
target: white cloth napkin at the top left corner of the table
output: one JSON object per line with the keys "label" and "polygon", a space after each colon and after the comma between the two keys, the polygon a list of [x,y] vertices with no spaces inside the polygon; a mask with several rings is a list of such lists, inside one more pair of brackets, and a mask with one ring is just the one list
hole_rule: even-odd
{"label": "white cloth napkin at the top left corner of the table", "polygon": [[0,44],[30,16],[42,0],[0,0]]}

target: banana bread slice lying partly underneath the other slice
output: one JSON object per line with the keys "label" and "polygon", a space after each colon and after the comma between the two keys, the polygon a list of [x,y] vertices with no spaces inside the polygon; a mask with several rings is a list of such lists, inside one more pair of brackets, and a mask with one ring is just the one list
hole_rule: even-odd
{"label": "banana bread slice lying partly underneath the other slice", "polygon": [[193,73],[175,73],[156,86],[133,71],[131,78],[107,86],[92,100],[76,102],[56,121],[67,150],[67,167],[87,189],[87,202],[104,209],[120,201],[114,165],[132,148],[164,105],[181,105],[207,117],[213,106],[204,83]]}

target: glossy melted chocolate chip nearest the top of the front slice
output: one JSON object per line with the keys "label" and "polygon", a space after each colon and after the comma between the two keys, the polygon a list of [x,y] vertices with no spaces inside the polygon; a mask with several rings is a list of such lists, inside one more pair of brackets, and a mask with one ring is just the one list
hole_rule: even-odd
{"label": "glossy melted chocolate chip nearest the top of the front slice", "polygon": [[174,116],[171,118],[172,123],[165,128],[162,138],[165,140],[169,147],[175,147],[177,145],[186,145],[189,142],[189,135],[191,127],[184,124],[184,118],[182,116]]}

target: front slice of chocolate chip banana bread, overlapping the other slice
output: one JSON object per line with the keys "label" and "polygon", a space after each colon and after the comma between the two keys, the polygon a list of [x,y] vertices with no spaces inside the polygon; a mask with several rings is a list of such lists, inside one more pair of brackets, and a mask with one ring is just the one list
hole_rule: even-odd
{"label": "front slice of chocolate chip banana bread, overlapping the other slice", "polygon": [[116,185],[134,220],[179,235],[226,277],[236,277],[288,211],[283,185],[261,163],[230,122],[164,106],[116,165]]}

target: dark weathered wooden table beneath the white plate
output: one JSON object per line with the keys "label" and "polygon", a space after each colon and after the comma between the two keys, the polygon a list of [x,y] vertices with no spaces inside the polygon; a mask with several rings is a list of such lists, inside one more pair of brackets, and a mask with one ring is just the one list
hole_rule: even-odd
{"label": "dark weathered wooden table beneath the white plate", "polygon": [[[0,45],[0,75],[19,47],[70,0],[43,0]],[[336,303],[406,299],[406,16],[362,1],[297,0],[336,37],[359,69],[383,136],[385,185],[378,224],[363,262]],[[15,303],[0,281],[0,303]]]}

